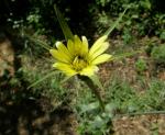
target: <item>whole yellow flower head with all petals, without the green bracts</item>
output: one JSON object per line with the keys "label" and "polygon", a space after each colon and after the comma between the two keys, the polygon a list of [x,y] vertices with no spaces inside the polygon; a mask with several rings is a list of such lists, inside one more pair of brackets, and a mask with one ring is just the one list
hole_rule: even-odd
{"label": "whole yellow flower head with all petals, without the green bracts", "polygon": [[101,36],[89,48],[86,36],[80,38],[75,35],[74,40],[68,40],[67,46],[62,42],[56,43],[56,48],[50,49],[52,56],[56,59],[53,64],[58,70],[67,76],[81,75],[92,76],[98,71],[98,66],[111,58],[109,54],[102,54],[108,47],[107,35]]}

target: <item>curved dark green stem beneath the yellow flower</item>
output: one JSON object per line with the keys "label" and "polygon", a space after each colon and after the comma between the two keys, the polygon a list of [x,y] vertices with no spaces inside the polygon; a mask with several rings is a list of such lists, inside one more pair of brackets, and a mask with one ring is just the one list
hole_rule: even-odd
{"label": "curved dark green stem beneath the yellow flower", "polygon": [[99,103],[100,103],[100,106],[102,109],[102,111],[105,111],[105,103],[101,99],[101,95],[98,91],[98,87],[96,87],[94,85],[94,82],[88,78],[88,77],[82,77],[82,76],[78,76],[78,78],[82,81],[86,82],[86,85],[90,88],[90,90],[92,91],[92,93],[96,95],[96,98],[98,99]]}

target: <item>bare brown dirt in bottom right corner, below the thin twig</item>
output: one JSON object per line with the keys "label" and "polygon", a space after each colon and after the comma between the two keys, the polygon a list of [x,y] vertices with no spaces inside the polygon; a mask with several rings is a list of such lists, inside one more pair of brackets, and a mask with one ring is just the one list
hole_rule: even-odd
{"label": "bare brown dirt in bottom right corner, below the thin twig", "polygon": [[113,121],[114,135],[165,135],[165,115],[140,115]]}

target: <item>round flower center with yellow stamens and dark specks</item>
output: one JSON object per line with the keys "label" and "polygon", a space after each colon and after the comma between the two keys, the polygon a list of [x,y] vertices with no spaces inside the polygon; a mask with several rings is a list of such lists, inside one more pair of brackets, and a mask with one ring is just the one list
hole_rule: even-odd
{"label": "round flower center with yellow stamens and dark specks", "polygon": [[80,71],[81,69],[84,69],[87,66],[88,66],[87,60],[81,56],[76,56],[73,60],[73,68],[76,71]]}

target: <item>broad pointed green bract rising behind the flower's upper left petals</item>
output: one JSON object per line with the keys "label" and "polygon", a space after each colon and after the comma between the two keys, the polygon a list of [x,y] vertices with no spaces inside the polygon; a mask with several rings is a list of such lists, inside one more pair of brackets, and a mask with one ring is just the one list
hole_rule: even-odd
{"label": "broad pointed green bract rising behind the flower's upper left petals", "polygon": [[65,40],[68,41],[68,40],[73,40],[74,38],[74,35],[69,29],[69,26],[67,25],[67,23],[65,22],[65,19],[64,16],[62,15],[61,11],[57,9],[56,5],[54,5],[54,9],[55,9],[55,12],[56,12],[56,16],[57,16],[57,20],[59,22],[59,25],[62,27],[62,31],[64,33],[64,36],[65,36]]}

